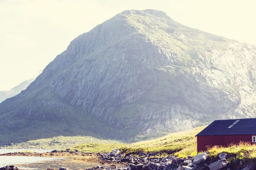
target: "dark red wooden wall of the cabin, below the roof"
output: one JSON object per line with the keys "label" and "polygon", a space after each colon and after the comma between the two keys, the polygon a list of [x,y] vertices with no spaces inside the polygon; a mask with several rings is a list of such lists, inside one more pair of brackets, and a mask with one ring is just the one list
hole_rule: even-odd
{"label": "dark red wooden wall of the cabin, below the roof", "polygon": [[252,136],[256,135],[215,135],[215,136],[197,136],[197,150],[206,151],[207,146],[228,146],[229,144],[238,144],[239,142],[249,142],[252,144]]}

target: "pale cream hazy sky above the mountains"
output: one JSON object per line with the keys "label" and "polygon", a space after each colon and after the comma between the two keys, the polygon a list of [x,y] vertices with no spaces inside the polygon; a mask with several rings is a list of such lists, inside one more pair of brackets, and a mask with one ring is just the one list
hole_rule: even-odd
{"label": "pale cream hazy sky above the mountains", "polygon": [[78,35],[126,9],[256,44],[255,0],[0,0],[0,91],[33,77]]}

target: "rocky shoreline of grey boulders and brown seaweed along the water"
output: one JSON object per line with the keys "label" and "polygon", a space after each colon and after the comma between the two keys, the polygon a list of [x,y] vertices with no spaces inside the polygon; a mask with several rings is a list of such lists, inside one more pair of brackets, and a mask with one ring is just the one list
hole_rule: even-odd
{"label": "rocky shoreline of grey boulders and brown seaweed along the water", "polygon": [[[77,156],[74,159],[80,161],[94,162],[99,164],[85,170],[230,170],[227,153],[218,155],[218,160],[210,163],[206,152],[187,159],[178,159],[175,156],[158,157],[156,153],[140,153],[137,156],[122,155],[119,150],[111,153],[84,153],[76,151],[57,151],[51,153],[6,153],[0,156]],[[81,159],[81,156],[89,156],[91,159]],[[71,168],[71,167],[70,167]],[[19,170],[15,166],[6,166],[0,170]],[[53,170],[53,169],[47,169]],[[59,170],[68,170],[61,167]],[[253,164],[248,164],[241,170],[255,170]]]}

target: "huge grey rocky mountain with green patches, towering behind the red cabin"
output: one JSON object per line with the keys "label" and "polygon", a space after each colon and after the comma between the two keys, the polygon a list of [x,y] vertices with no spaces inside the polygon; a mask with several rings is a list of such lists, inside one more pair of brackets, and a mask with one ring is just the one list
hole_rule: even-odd
{"label": "huge grey rocky mountain with green patches, towering behind the red cabin", "polygon": [[255,105],[255,47],[128,10],[76,37],[0,104],[0,139],[159,136],[254,117]]}

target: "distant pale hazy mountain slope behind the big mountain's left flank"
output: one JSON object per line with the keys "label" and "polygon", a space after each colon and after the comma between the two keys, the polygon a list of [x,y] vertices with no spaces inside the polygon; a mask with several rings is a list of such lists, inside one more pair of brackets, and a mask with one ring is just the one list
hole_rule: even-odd
{"label": "distant pale hazy mountain slope behind the big mountain's left flank", "polygon": [[41,72],[42,71],[39,71],[35,77],[32,77],[29,80],[25,80],[24,82],[21,82],[19,85],[15,86],[9,91],[0,91],[0,103],[3,102],[5,99],[16,96],[21,91],[25,90],[30,85],[30,83],[32,83],[39,74],[41,74]]}

